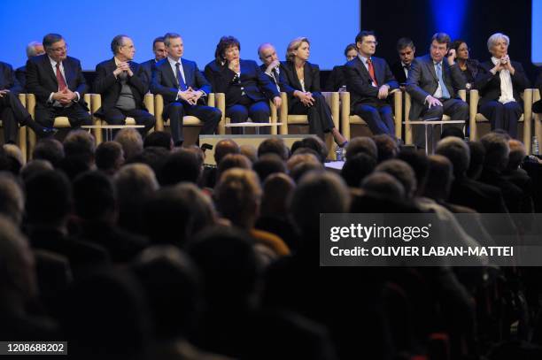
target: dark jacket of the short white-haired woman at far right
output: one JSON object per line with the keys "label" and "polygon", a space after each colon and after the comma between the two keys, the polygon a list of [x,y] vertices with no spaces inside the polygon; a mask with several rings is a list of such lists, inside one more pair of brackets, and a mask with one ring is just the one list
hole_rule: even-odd
{"label": "dark jacket of the short white-haired woman at far right", "polygon": [[[514,75],[510,74],[512,78],[512,89],[514,91],[514,98],[517,103],[523,104],[521,92],[525,88],[529,88],[529,80],[523,71],[523,66],[515,61],[512,61],[512,66],[515,69]],[[499,73],[494,75],[490,72],[495,67],[492,61],[486,61],[481,63],[479,71],[476,75],[474,87],[480,92],[480,101],[478,107],[488,103],[490,101],[499,100],[500,96],[500,76]]]}

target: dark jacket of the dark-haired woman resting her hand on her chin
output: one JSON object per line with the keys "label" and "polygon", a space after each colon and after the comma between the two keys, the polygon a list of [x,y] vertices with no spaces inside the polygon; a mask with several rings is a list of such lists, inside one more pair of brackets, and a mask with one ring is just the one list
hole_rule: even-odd
{"label": "dark jacket of the dark-haired woman resting her hand on her chin", "polygon": [[275,96],[280,96],[275,84],[259,69],[255,61],[239,60],[239,62],[240,79],[227,65],[212,61],[205,66],[205,76],[213,84],[214,92],[226,94],[227,106],[238,103],[243,91],[254,102],[272,100]]}

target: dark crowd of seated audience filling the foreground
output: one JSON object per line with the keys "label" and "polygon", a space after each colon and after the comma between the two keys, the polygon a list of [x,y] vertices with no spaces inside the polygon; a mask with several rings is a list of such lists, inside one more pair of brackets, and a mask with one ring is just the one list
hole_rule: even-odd
{"label": "dark crowd of seated audience filling the foreground", "polygon": [[[165,132],[96,147],[72,130],[26,164],[6,144],[0,338],[68,341],[83,359],[539,358],[538,268],[319,265],[323,212],[436,212],[464,244],[519,239],[542,165],[504,132],[444,135],[430,157],[353,138],[340,173],[317,136],[225,139],[216,168]],[[456,219],[499,211],[499,229]]]}

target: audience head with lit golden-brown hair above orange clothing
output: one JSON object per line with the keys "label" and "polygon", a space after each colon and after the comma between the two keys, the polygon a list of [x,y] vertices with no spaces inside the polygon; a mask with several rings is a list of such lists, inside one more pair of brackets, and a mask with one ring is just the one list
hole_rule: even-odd
{"label": "audience head with lit golden-brown hair above orange clothing", "polygon": [[214,188],[216,206],[232,224],[252,229],[259,216],[261,187],[256,172],[233,168],[221,173]]}

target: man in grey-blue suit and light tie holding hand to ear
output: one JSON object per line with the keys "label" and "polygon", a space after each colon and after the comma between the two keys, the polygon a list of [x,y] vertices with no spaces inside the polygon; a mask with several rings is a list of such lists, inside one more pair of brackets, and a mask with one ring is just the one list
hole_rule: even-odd
{"label": "man in grey-blue suit and light tie holding hand to ear", "polygon": [[[431,38],[430,54],[416,57],[406,80],[406,91],[412,96],[410,119],[442,120],[446,114],[451,120],[467,120],[468,104],[456,98],[457,91],[466,86],[465,79],[459,65],[454,62],[455,50],[449,50],[448,54],[449,47],[450,36],[437,33]],[[447,60],[446,54],[449,55]],[[421,126],[416,127],[414,142],[424,147],[423,132],[415,131],[421,130]]]}

